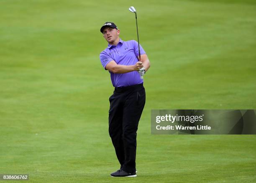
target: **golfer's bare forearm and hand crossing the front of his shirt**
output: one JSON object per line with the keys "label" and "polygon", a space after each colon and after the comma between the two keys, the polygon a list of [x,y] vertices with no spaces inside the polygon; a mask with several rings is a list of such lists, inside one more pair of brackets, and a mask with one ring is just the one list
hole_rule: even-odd
{"label": "golfer's bare forearm and hand crossing the front of his shirt", "polygon": [[115,74],[123,74],[131,71],[138,71],[143,67],[142,62],[138,61],[135,65],[125,66],[116,64],[115,61],[110,61],[106,65],[106,69]]}

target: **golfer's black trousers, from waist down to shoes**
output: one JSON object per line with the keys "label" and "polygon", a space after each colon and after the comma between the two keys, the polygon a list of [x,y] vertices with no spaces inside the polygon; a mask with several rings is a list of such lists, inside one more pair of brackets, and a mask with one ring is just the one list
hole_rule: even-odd
{"label": "golfer's black trousers, from waist down to shoes", "polygon": [[136,136],[146,94],[143,84],[115,88],[109,98],[109,135],[115,147],[120,168],[136,171]]}

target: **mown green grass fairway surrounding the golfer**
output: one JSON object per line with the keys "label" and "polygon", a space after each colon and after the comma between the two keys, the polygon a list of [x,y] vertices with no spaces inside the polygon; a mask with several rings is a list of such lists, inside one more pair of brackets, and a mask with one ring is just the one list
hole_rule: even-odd
{"label": "mown green grass fairway surrounding the golfer", "polygon": [[[99,59],[108,45],[100,28],[112,21],[122,40],[137,40],[130,6],[151,68],[138,176],[112,178],[114,88]],[[35,183],[256,182],[256,135],[151,135],[151,109],[256,109],[255,0],[0,0],[0,35],[0,174]]]}

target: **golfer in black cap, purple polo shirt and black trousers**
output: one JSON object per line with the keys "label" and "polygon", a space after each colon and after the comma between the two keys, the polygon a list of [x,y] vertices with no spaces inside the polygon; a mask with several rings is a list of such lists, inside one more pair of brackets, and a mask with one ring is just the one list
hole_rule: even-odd
{"label": "golfer in black cap, purple polo shirt and black trousers", "polygon": [[108,41],[108,47],[100,53],[100,61],[110,72],[115,87],[109,98],[109,135],[115,147],[120,170],[110,175],[136,177],[136,135],[146,101],[141,76],[150,67],[150,62],[141,46],[139,61],[138,43],[134,40],[121,40],[120,30],[114,23],[106,22],[100,32]]}

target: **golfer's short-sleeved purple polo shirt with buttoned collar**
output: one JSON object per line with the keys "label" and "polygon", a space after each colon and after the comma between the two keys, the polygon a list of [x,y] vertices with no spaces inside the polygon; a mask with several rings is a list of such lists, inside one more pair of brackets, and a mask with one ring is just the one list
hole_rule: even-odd
{"label": "golfer's short-sleeved purple polo shirt with buttoned collar", "polygon": [[[140,45],[141,55],[146,54]],[[100,53],[100,61],[105,68],[110,61],[115,61],[120,65],[134,65],[138,61],[138,42],[119,40],[117,46],[108,44],[108,48]],[[110,72],[110,71],[109,71]],[[114,87],[131,86],[143,83],[140,74],[132,71],[124,74],[114,74],[110,72],[110,78]]]}

